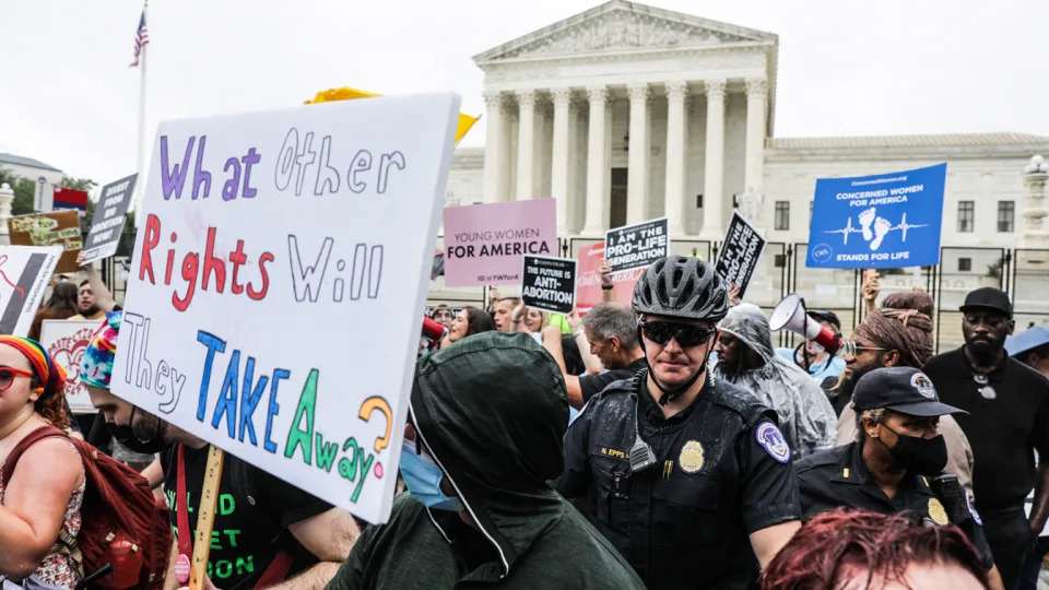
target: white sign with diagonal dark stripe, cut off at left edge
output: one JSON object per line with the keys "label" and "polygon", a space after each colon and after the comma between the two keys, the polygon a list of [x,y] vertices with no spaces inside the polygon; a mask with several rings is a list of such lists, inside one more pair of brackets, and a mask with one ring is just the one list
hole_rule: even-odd
{"label": "white sign with diagonal dark stripe, cut off at left edge", "polygon": [[0,334],[30,333],[62,249],[0,246]]}

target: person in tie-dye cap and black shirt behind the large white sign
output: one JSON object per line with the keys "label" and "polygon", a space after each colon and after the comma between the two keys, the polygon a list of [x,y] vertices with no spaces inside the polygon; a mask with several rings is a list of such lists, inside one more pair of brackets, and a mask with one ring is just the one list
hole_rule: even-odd
{"label": "person in tie-dye cap and black shirt behind the large white sign", "polygon": [[[96,332],[84,352],[81,381],[115,437],[139,450],[162,453],[169,521],[177,538],[173,555],[189,557],[208,444],[109,391],[120,324],[121,314],[111,314]],[[360,533],[345,510],[232,455],[225,459],[216,495],[229,498],[229,510],[214,515],[216,534],[212,535],[209,578],[217,587],[247,588],[261,579],[286,579],[276,587],[320,588],[334,575]],[[172,559],[173,568],[176,562]],[[220,563],[226,567],[211,567]],[[174,571],[170,579],[177,579]]]}

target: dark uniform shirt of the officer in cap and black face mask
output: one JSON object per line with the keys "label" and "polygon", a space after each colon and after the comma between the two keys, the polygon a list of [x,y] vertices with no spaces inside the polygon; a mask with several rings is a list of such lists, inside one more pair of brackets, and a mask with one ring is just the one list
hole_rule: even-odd
{"label": "dark uniform shirt of the officer in cap and black face mask", "polygon": [[816,451],[794,463],[801,511],[809,520],[839,507],[861,508],[883,515],[904,515],[929,524],[957,524],[979,550],[985,565],[993,564],[990,546],[983,535],[982,521],[966,494],[965,506],[945,507],[929,487],[928,479],[907,474],[889,498],[867,470],[862,447],[850,442],[842,447]]}

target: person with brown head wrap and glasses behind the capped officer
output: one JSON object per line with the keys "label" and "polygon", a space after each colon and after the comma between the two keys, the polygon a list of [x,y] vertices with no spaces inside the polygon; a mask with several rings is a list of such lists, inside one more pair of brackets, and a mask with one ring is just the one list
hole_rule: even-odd
{"label": "person with brown head wrap and glasses behind the capped officer", "polygon": [[[846,370],[836,398],[842,406],[835,446],[857,439],[857,416],[849,401],[864,375],[881,367],[922,368],[932,352],[932,297],[927,293],[895,293],[885,297],[882,308],[869,311],[846,345]],[[939,430],[947,447],[946,472],[973,493],[974,456],[965,433],[951,415],[940,418]]]}

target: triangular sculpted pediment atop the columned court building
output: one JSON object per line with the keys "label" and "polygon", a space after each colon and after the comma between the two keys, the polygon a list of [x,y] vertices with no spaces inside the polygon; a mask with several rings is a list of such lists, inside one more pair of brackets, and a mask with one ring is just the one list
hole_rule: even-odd
{"label": "triangular sculpted pediment atop the columned court building", "polygon": [[474,56],[478,66],[531,58],[770,44],[776,35],[613,0]]}

